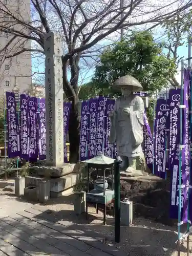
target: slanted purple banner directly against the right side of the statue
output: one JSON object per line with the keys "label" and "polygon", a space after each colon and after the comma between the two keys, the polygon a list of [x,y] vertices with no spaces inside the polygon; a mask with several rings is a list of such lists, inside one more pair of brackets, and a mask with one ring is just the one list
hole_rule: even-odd
{"label": "slanted purple banner directly against the right side of the statue", "polygon": [[144,112],[144,125],[143,125],[143,151],[148,168],[153,172],[153,137],[148,124],[146,112]]}

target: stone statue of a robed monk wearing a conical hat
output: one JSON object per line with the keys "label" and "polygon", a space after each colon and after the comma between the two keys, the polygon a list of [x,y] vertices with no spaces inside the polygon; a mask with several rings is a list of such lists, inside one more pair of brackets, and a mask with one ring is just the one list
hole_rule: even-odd
{"label": "stone statue of a robed monk wearing a conical hat", "polygon": [[[141,97],[133,92],[143,88],[132,76],[120,77],[114,88],[121,90],[122,96],[117,98],[114,110],[110,111],[111,132],[110,143],[117,144],[117,154],[121,157],[121,170],[133,173],[136,160],[142,152],[144,103]],[[128,167],[129,159],[129,167]]]}

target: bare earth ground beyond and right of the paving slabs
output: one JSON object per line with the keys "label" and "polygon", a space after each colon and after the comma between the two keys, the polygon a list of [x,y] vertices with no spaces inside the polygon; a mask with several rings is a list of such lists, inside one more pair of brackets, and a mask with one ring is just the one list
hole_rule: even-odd
{"label": "bare earth ground beyond and right of the paving slabs", "polygon": [[[9,181],[8,181],[9,182]],[[12,183],[12,181],[10,181]],[[5,191],[3,181],[0,180],[0,200],[2,207],[8,207],[10,198],[15,205],[17,212],[32,207],[33,204],[24,200],[18,200],[14,197],[14,189]],[[11,190],[11,189],[10,189]],[[107,216],[107,225],[102,225],[102,212],[95,214],[95,208],[89,207],[89,221],[85,216],[74,215],[74,195],[63,196],[50,200],[46,205],[36,204],[35,208],[41,211],[49,210],[58,220],[69,220],[79,224],[82,228],[89,228],[103,234],[109,243],[114,241],[114,219]],[[17,206],[16,206],[17,205]],[[2,207],[2,208],[3,208]],[[1,212],[1,211],[0,211]],[[9,212],[10,215],[10,212]],[[116,246],[124,250],[131,256],[176,256],[177,255],[177,227],[169,227],[163,224],[148,221],[143,218],[134,219],[131,227],[121,227],[121,242]],[[183,227],[186,230],[186,227]],[[190,237],[190,249],[192,247],[192,237]],[[186,242],[181,246],[181,256],[186,255]],[[192,256],[192,250],[190,251]]]}

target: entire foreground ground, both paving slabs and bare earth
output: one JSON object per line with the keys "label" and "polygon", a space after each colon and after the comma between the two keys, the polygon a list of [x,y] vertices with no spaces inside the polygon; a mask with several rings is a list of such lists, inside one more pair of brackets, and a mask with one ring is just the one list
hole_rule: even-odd
{"label": "entire foreground ground, both paving slabs and bare earth", "polygon": [[[177,255],[176,226],[137,218],[132,227],[121,227],[121,242],[115,244],[114,219],[109,215],[108,225],[103,226],[102,211],[96,215],[94,207],[89,207],[89,221],[84,215],[74,215],[73,195],[52,199],[44,205],[33,205],[17,199],[14,189],[5,191],[1,184],[2,187],[6,185],[0,182],[0,256],[4,256],[6,250],[11,256],[40,256],[46,253],[55,256]],[[121,250],[120,254],[116,247]],[[192,251],[190,253],[192,255]],[[185,255],[186,242],[181,246],[181,256]]]}

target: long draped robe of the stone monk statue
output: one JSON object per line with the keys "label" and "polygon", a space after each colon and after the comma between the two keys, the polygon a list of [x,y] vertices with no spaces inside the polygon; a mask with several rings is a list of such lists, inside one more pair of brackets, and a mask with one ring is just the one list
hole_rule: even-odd
{"label": "long draped robe of the stone monk statue", "polygon": [[[123,112],[130,108],[130,115]],[[141,97],[131,93],[117,98],[111,117],[109,141],[117,144],[118,156],[137,157],[142,153],[144,103]]]}

